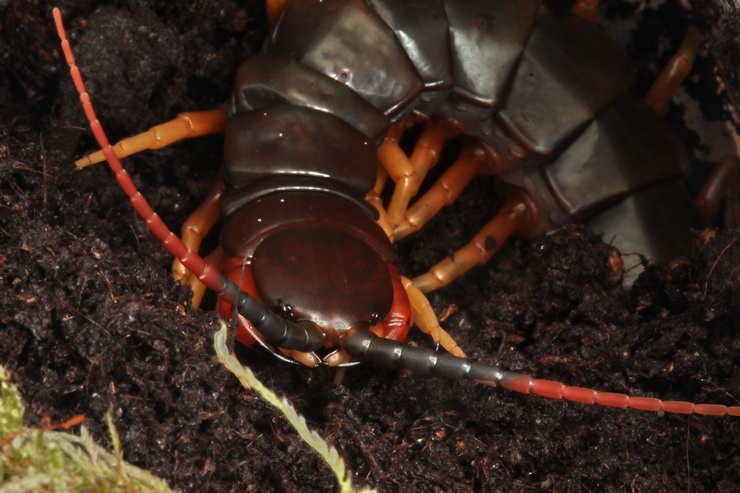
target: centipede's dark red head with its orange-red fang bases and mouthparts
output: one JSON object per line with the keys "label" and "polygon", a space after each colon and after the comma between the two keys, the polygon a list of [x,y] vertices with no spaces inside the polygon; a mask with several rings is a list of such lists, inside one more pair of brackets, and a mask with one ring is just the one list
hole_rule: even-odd
{"label": "centipede's dark red head with its orange-red fang bases and mouthparts", "polygon": [[[230,252],[224,274],[279,317],[316,327],[324,334],[326,350],[336,349],[355,326],[373,328],[380,336],[392,333],[400,338],[408,333],[410,314],[401,317],[404,324],[391,315],[399,311],[399,298],[401,306],[408,307],[398,273],[361,237],[311,221],[283,225],[261,236],[256,245],[249,236],[240,238],[246,243]],[[228,318],[233,309],[221,302],[220,312]],[[259,343],[281,359],[287,354],[308,366],[344,366],[351,359],[342,351],[316,354],[273,347],[254,330],[251,320],[241,316],[237,339],[247,346]]]}

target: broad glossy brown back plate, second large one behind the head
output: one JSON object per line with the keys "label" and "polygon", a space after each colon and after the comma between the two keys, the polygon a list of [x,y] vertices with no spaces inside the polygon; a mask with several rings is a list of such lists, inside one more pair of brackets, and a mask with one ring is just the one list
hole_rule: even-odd
{"label": "broad glossy brown back plate, second large one behind the head", "polygon": [[[285,104],[239,113],[229,121],[224,140],[224,179],[230,188],[224,215],[254,200],[255,183],[272,193],[278,179],[283,186],[342,190],[365,206],[376,173],[375,146],[330,113]],[[273,185],[265,187],[265,180]]]}

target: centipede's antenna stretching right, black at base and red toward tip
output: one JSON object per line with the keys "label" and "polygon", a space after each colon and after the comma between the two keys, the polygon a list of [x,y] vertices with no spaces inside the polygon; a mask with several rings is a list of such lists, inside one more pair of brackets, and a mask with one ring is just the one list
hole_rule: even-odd
{"label": "centipede's antenna stretching right, black at base and red toward tip", "polygon": [[465,378],[484,385],[501,386],[522,394],[536,394],[550,399],[653,412],[740,416],[740,406],[632,397],[626,394],[571,387],[552,380],[540,380],[530,375],[502,370],[497,366],[473,362],[451,354],[440,354],[433,349],[384,339],[362,327],[354,327],[341,345],[352,357],[372,361],[386,368],[406,369],[447,378]]}

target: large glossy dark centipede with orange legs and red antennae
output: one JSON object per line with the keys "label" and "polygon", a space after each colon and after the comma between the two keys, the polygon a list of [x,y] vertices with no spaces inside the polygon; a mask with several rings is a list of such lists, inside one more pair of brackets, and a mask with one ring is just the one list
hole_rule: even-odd
{"label": "large glossy dark centipede with orange legs and red antennae", "polygon": [[[286,363],[297,362],[293,368],[354,367],[359,360],[370,360],[370,365],[394,370],[467,378],[525,393],[585,403],[659,412],[737,415],[738,407],[733,405],[690,404],[596,392],[474,362],[464,356],[471,348],[457,344],[452,329],[443,329],[444,322],[434,318],[433,310],[427,310],[428,302],[422,294],[450,289],[443,285],[454,281],[439,274],[445,267],[437,271],[432,269],[430,275],[422,275],[421,279],[403,277],[400,275],[405,274],[402,271],[399,274],[392,261],[392,244],[407,234],[413,238],[414,233],[404,228],[418,226],[414,224],[421,217],[416,215],[417,211],[431,209],[427,214],[433,217],[442,204],[433,198],[435,193],[441,193],[438,190],[449,192],[455,186],[464,188],[463,185],[472,177],[480,174],[494,177],[496,187],[491,193],[499,195],[503,204],[494,215],[492,222],[496,225],[493,232],[484,229],[483,240],[473,242],[476,249],[486,252],[486,261],[515,232],[533,238],[576,220],[588,223],[604,236],[616,238],[619,228],[602,226],[603,229],[599,229],[599,221],[608,222],[604,217],[611,214],[624,217],[614,211],[613,206],[625,197],[636,202],[662,201],[662,198],[654,196],[637,198],[643,192],[650,195],[648,190],[655,187],[661,189],[658,195],[670,197],[666,201],[677,200],[664,202],[668,204],[666,208],[676,212],[685,207],[691,212],[677,215],[692,219],[676,227],[681,239],[673,238],[667,245],[656,246],[656,250],[678,246],[679,251],[661,256],[663,254],[647,249],[641,251],[643,256],[660,262],[670,261],[686,253],[689,244],[686,238],[690,230],[704,227],[693,202],[681,191],[678,180],[688,165],[685,151],[661,118],[653,116],[656,113],[654,108],[645,108],[642,103],[635,103],[625,96],[630,82],[629,69],[625,68],[628,61],[620,49],[609,44],[591,20],[577,15],[551,14],[543,11],[539,2],[514,2],[516,6],[510,2],[491,2],[486,7],[491,10],[485,15],[476,12],[471,5],[463,6],[463,3],[294,1],[288,2],[279,15],[276,13],[265,48],[241,65],[236,75],[236,89],[225,105],[210,112],[188,113],[185,117],[197,120],[204,116],[203,121],[209,129],[202,133],[215,131],[225,134],[226,164],[199,209],[200,215],[207,216],[208,220],[187,223],[191,236],[193,232],[198,236],[201,235],[198,230],[210,228],[205,223],[216,221],[214,215],[222,216],[218,248],[223,253],[217,250],[210,259],[197,266],[191,260],[193,255],[185,253],[187,249],[175,246],[173,248],[179,250],[176,256],[180,260],[180,264],[173,267],[175,275],[189,283],[196,297],[202,296],[204,290],[200,281],[195,279],[204,281],[202,284],[213,289],[222,299],[219,302],[221,314],[239,320],[238,338],[242,343],[261,347]],[[459,10],[456,6],[460,7]],[[510,12],[514,12],[511,15],[515,17],[506,17]],[[416,22],[419,16],[425,16],[429,22]],[[433,21],[443,27],[436,34],[432,34]],[[475,31],[456,31],[455,22],[469,22]],[[496,60],[484,64],[486,73],[493,71],[490,66],[496,63],[508,67],[496,71],[504,75],[495,84],[493,79],[485,82],[497,85],[496,91],[500,93],[484,96],[476,87],[483,83],[481,76],[467,71],[473,69],[465,68],[469,61],[463,60],[462,54],[466,49],[477,46],[471,44],[471,32],[488,32],[499,23],[514,31],[521,29],[512,38],[520,40],[514,43],[519,51],[506,63],[496,57]],[[358,36],[352,26],[367,29],[363,29],[365,34]],[[414,26],[423,26],[423,29],[414,34]],[[522,27],[515,29],[514,26]],[[332,29],[337,29],[336,33],[340,34]],[[319,37],[313,38],[314,33],[319,33]],[[332,38],[341,36],[341,33],[345,33],[346,38],[339,41]],[[439,33],[449,33],[449,37]],[[322,38],[324,35],[328,37]],[[568,49],[553,41],[568,36],[572,36],[567,40]],[[358,38],[360,44],[353,45]],[[433,41],[438,39],[445,40],[447,46],[446,54],[442,56],[439,55],[441,48]],[[688,44],[691,43],[689,40]],[[313,46],[321,48],[303,52]],[[588,55],[579,51],[584,46],[588,47]],[[327,54],[327,49],[331,53]],[[428,56],[429,62],[424,58],[427,57],[425,51],[433,53]],[[528,88],[526,84],[536,78],[532,74],[549,68],[538,63],[547,65],[543,60],[551,60],[555,56],[553,53],[565,58],[553,64],[553,76],[548,74],[545,77],[550,81],[548,83],[555,84],[552,81],[559,77],[568,79],[572,76],[559,73],[558,70],[562,69],[557,67],[575,63],[569,58],[574,56],[578,60],[581,57],[590,59],[595,67],[584,65],[585,72],[570,84],[578,86],[579,82],[588,80],[583,86],[593,88],[608,86],[605,81],[609,81],[616,84],[615,87],[609,88],[606,94],[582,92],[578,93],[579,97],[573,97],[577,101],[593,97],[598,100],[593,107],[582,107],[581,103],[578,107],[571,106],[570,96],[557,96],[540,89],[541,80],[535,88]],[[72,65],[70,53],[66,52],[66,55]],[[449,64],[441,60],[449,61]],[[384,63],[389,64],[388,69],[382,68]],[[479,63],[478,59],[476,63]],[[366,67],[369,69],[363,73]],[[439,70],[443,76],[433,79],[423,72],[427,68]],[[388,78],[382,79],[378,74],[392,74],[392,77],[385,75]],[[465,77],[469,80],[463,82]],[[75,79],[78,86],[80,81]],[[394,93],[394,88],[399,89]],[[575,92],[578,90],[581,88],[574,89]],[[84,90],[80,92],[85,94]],[[536,100],[540,92],[547,96],[542,101]],[[85,96],[83,99],[87,100]],[[516,107],[517,104],[521,107]],[[548,113],[540,109],[546,104],[566,106]],[[530,108],[532,113],[529,113]],[[92,106],[86,105],[88,115],[92,111]],[[582,112],[593,114],[573,116]],[[565,123],[553,122],[553,113],[576,119]],[[491,119],[494,114],[495,118]],[[607,116],[601,120],[601,115]],[[520,120],[515,121],[516,118]],[[480,121],[486,123],[478,125],[476,122]],[[548,123],[557,131],[547,129]],[[599,125],[609,130],[594,130],[602,128]],[[413,143],[417,150],[403,151],[397,143],[412,127],[420,132]],[[568,131],[561,133],[566,127]],[[580,194],[568,195],[571,192],[568,187],[573,186],[580,187],[579,192],[588,196],[596,187],[595,182],[570,183],[569,180],[574,180],[571,178],[573,175],[565,168],[561,169],[560,165],[572,162],[569,159],[573,156],[589,152],[596,154],[578,149],[581,136],[590,136],[584,138],[589,142],[598,141],[599,132],[618,132],[612,130],[614,128],[626,128],[624,135],[636,136],[637,143],[632,147],[638,149],[640,156],[627,159],[655,159],[661,170],[647,177],[641,175],[639,180],[642,181],[634,188],[630,185],[614,192],[616,198],[602,195],[583,199]],[[101,133],[97,127],[94,131]],[[539,137],[533,137],[530,132],[543,132],[546,137],[538,140]],[[620,134],[615,139],[624,140],[627,138],[624,135]],[[428,185],[426,195],[421,193],[418,194],[421,198],[415,197],[415,189],[424,182],[424,173],[414,169],[416,161],[427,160],[422,167],[431,168],[435,163],[430,161],[434,161],[434,156],[441,153],[442,147],[452,139],[456,139],[459,149],[451,159],[451,178],[439,178],[436,184]],[[652,145],[648,146],[646,142]],[[126,141],[123,146],[113,147],[101,143],[109,160],[115,160],[115,154],[123,157],[120,149],[125,146]],[[285,147],[278,151],[280,146]],[[244,158],[245,155],[250,158]],[[289,156],[296,155],[302,155],[302,161],[305,161],[300,165],[286,164],[291,162]],[[264,160],[255,156],[263,156]],[[96,158],[93,155],[85,159],[92,162]],[[307,165],[305,162],[319,164]],[[352,166],[352,173],[342,170],[341,166],[346,163],[357,163]],[[410,168],[406,167],[407,163]],[[583,162],[577,165],[586,167]],[[594,173],[611,172],[609,167],[605,170]],[[119,181],[126,187],[123,173],[116,171]],[[617,175],[625,171],[620,169],[613,173]],[[460,178],[463,175],[470,178]],[[325,183],[327,177],[330,183]],[[451,184],[457,179],[463,183]],[[410,185],[405,187],[404,181]],[[670,191],[666,192],[664,188]],[[557,196],[553,195],[553,189],[557,189]],[[156,223],[154,211],[145,206],[137,193],[131,190],[130,194],[136,197],[132,198],[135,207],[145,211],[145,222]],[[286,206],[284,213],[276,212],[281,204],[291,203],[294,197],[297,197],[298,205]],[[314,200],[316,197],[320,199]],[[568,201],[572,207],[565,210],[562,204]],[[557,209],[552,207],[553,203],[557,203]],[[218,214],[214,214],[214,209]],[[594,210],[598,212],[594,213]],[[568,218],[563,219],[565,216]],[[547,220],[535,219],[542,217]],[[501,223],[504,226],[499,226]],[[247,228],[251,228],[248,232],[244,232],[245,224],[253,225]],[[502,232],[501,228],[512,231]],[[172,245],[176,241],[169,229],[155,229],[156,236],[163,238],[165,243]],[[627,229],[632,231],[634,228]],[[650,231],[655,229],[650,228]],[[187,233],[183,236],[187,248],[197,253],[200,237],[193,242],[188,240]],[[462,244],[455,244],[451,249],[463,246],[468,240],[472,238],[455,239],[453,243],[460,241]],[[649,241],[647,243],[650,244]],[[637,247],[619,245],[621,249],[637,250]],[[332,261],[316,261],[317,252]],[[455,262],[455,259],[465,259],[465,252],[456,252],[449,258],[451,260],[447,263],[453,265],[453,278],[467,275],[462,272],[467,268],[460,269]],[[360,267],[354,265],[355,262]],[[307,265],[318,267],[306,270]],[[340,266],[344,266],[344,272],[337,272]],[[485,265],[469,267],[476,270],[487,268]],[[189,269],[194,275],[188,272]],[[217,272],[223,272],[225,279],[218,277]],[[344,280],[349,275],[354,277]],[[332,285],[340,278],[343,287]],[[307,285],[310,288],[307,289]],[[381,289],[381,285],[385,288]],[[353,291],[348,286],[353,289],[369,287],[365,291]],[[331,316],[337,318],[327,318],[326,305],[314,312],[310,311],[312,308],[305,308],[303,305],[314,301],[304,303],[300,300],[302,291],[311,293],[310,298],[316,298],[315,292],[322,293],[320,305],[329,298]],[[399,301],[404,295],[408,298]],[[360,309],[362,316],[356,320],[352,317],[357,318],[354,313],[357,308],[352,305],[358,299],[366,306]],[[231,306],[237,307],[236,313]],[[267,310],[260,311],[260,308]],[[404,342],[412,323],[421,325],[422,330],[429,334],[427,337],[431,338],[432,347],[427,344],[426,348],[421,348]],[[294,330],[296,326],[299,327],[297,331]],[[327,332],[327,326],[332,330]],[[417,340],[425,339],[418,337]],[[434,348],[435,344],[440,348]],[[352,371],[348,369],[350,374]],[[497,394],[503,392],[485,390]],[[533,399],[532,396],[529,398]]]}

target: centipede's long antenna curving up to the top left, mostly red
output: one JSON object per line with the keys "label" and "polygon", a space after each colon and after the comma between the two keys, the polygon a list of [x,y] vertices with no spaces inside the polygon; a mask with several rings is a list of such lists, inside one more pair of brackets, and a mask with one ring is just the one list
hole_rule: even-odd
{"label": "centipede's long antenna curving up to the top left, mostly red", "polygon": [[212,269],[203,258],[196,252],[190,250],[173,233],[162,219],[155,213],[144,196],[137,190],[131,177],[123,168],[121,161],[113,151],[105,131],[95,115],[90,95],[85,89],[82,80],[82,74],[77,67],[72,47],[67,40],[67,34],[62,23],[62,16],[58,8],[53,10],[54,23],[56,24],[57,33],[61,40],[64,57],[69,64],[69,71],[72,76],[77,92],[80,94],[82,108],[85,116],[90,122],[90,129],[95,135],[98,145],[105,155],[111,170],[116,176],[119,185],[128,195],[131,204],[139,215],[144,219],[149,229],[154,235],[162,241],[162,244],[175,257],[180,259],[183,265],[200,279],[208,288],[216,292],[219,298],[232,304],[234,308],[245,318],[247,318],[254,327],[260,331],[272,344],[286,349],[297,349],[301,351],[313,351],[323,345],[324,334],[311,324],[300,324],[290,320],[278,317],[272,311],[260,304],[254,297],[245,293],[239,287],[225,278],[220,272]]}

